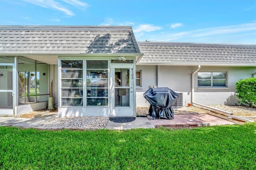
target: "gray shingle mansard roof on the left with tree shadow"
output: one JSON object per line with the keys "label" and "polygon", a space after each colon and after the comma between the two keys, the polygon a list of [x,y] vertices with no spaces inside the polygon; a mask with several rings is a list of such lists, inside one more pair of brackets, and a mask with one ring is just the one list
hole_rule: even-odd
{"label": "gray shingle mansard roof on the left with tree shadow", "polygon": [[0,53],[140,53],[132,27],[0,26]]}

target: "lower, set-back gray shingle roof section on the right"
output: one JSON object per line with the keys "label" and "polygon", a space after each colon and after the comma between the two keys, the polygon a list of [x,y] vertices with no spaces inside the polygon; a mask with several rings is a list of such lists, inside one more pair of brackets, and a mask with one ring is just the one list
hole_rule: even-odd
{"label": "lower, set-back gray shingle roof section on the right", "polygon": [[138,42],[143,63],[248,63],[256,65],[256,45]]}

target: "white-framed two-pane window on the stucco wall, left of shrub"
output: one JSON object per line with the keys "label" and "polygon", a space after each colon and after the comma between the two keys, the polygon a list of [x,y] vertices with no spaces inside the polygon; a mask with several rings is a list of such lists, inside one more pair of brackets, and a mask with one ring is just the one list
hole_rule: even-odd
{"label": "white-framed two-pane window on the stucco wall, left of shrub", "polygon": [[226,72],[198,72],[198,87],[226,87]]}

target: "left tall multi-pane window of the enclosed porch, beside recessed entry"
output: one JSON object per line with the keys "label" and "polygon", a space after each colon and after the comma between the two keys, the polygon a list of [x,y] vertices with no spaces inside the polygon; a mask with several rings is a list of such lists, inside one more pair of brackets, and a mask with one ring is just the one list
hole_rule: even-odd
{"label": "left tall multi-pane window of the enclosed porch, beside recessed entry", "polygon": [[61,61],[61,105],[83,106],[83,60]]}

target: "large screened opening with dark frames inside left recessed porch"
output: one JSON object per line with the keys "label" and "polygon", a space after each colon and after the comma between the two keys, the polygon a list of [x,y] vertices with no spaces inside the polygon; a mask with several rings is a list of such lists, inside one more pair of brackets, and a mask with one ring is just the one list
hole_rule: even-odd
{"label": "large screened opening with dark frames inside left recessed porch", "polygon": [[48,101],[49,65],[26,57],[18,57],[18,105]]}

